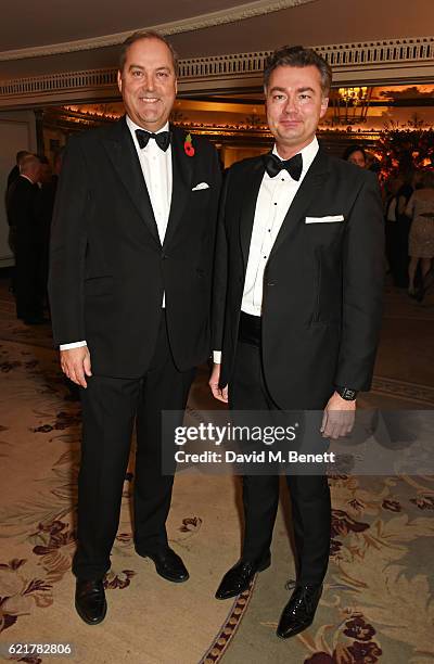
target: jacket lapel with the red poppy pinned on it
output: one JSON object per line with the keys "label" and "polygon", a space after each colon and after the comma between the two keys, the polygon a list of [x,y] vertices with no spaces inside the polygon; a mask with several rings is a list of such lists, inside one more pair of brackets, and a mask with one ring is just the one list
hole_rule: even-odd
{"label": "jacket lapel with the red poppy pinned on it", "polygon": [[173,127],[171,130],[171,201],[164,246],[167,246],[173,239],[182,218],[182,213],[186,209],[191,193],[194,159],[200,158],[197,153],[194,156],[186,154],[183,149],[184,132]]}

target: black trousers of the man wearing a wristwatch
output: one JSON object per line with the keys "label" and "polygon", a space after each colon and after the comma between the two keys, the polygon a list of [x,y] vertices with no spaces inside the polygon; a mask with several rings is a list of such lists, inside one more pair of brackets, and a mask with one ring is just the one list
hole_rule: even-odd
{"label": "black trousers of the man wearing a wristwatch", "polygon": [[[242,318],[245,320],[246,317]],[[255,345],[254,336],[254,330],[246,331],[244,327],[229,385],[231,410],[278,409],[265,383],[260,347]],[[248,340],[247,343],[245,340]],[[297,582],[320,584],[326,576],[330,551],[331,502],[327,477],[322,474],[289,474],[286,484],[292,503]],[[244,560],[260,560],[267,554],[278,505],[278,474],[243,475]]]}

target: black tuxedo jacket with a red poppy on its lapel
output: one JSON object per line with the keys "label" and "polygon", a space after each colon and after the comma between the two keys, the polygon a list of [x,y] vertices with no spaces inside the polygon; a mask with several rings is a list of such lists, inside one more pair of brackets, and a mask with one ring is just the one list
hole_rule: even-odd
{"label": "black tuxedo jacket with a red poppy on its lapel", "polygon": [[[137,378],[152,359],[163,292],[180,370],[209,353],[220,169],[212,144],[174,129],[173,195],[163,246],[131,133],[122,118],[71,139],[51,231],[54,342],[86,340],[92,371]],[[192,191],[206,182],[207,189]]]}

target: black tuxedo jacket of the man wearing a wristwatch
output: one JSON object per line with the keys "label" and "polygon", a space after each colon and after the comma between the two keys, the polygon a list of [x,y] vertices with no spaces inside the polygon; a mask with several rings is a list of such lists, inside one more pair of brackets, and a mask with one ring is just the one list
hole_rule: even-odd
{"label": "black tuxedo jacket of the man wearing a wristwatch", "polygon": [[[216,253],[214,348],[233,372],[260,157],[227,174]],[[333,219],[334,217],[334,219]],[[263,366],[282,409],[322,409],[335,385],[369,390],[382,312],[383,216],[375,176],[318,152],[264,277]]]}

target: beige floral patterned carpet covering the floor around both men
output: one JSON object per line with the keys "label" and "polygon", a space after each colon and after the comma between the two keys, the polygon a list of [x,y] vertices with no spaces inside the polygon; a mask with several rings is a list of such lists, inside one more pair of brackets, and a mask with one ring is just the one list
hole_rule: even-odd
{"label": "beige floral patterned carpet covering the floor around both men", "polygon": [[[108,614],[94,628],[73,608],[71,560],[79,458],[79,407],[69,400],[48,327],[14,319],[0,286],[0,643],[71,643],[56,661],[132,664],[427,664],[434,662],[433,477],[330,478],[331,564],[315,625],[291,641],[275,636],[294,576],[290,507],[282,493],[271,569],[233,603],[214,599],[240,547],[240,491],[229,476],[179,473],[168,524],[188,584],[159,578],[131,544],[125,482],[122,522],[107,575]],[[410,327],[409,327],[410,325]],[[367,406],[434,406],[434,307],[387,295],[374,391]],[[206,370],[188,418],[210,401]]]}

